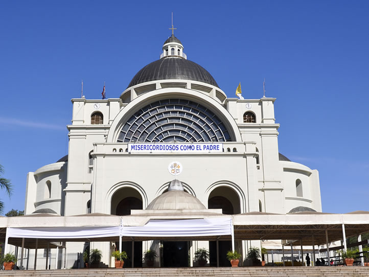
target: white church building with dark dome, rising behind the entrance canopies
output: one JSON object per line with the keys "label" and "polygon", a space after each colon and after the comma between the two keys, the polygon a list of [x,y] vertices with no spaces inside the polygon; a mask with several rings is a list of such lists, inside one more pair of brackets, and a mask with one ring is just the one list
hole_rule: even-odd
{"label": "white church building with dark dome, rising behind the entrance canopies", "polygon": [[68,155],[28,174],[25,214],[129,215],[174,178],[224,214],[321,212],[317,170],[279,153],[274,101],[227,98],[172,35],[119,98],[72,99]]}

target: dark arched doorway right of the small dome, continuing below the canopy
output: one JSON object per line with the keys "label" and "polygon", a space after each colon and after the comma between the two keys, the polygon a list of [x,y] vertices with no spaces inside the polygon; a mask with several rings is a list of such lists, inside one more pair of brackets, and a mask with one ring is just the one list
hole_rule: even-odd
{"label": "dark arched doorway right of the small dome, continuing below the canopy", "polygon": [[[222,209],[225,215],[241,213],[240,198],[237,193],[228,187],[218,187],[213,190],[207,200],[209,209]],[[219,266],[230,266],[226,258],[228,250],[232,250],[232,242],[219,241]],[[209,242],[210,266],[217,266],[217,243]]]}

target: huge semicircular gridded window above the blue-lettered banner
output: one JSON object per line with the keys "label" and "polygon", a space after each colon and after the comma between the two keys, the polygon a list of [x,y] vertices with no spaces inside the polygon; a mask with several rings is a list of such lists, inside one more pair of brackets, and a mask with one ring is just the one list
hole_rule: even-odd
{"label": "huge semicircular gridded window above the blue-lettered banner", "polygon": [[165,99],[137,110],[118,142],[228,142],[224,123],[210,109],[184,99]]}

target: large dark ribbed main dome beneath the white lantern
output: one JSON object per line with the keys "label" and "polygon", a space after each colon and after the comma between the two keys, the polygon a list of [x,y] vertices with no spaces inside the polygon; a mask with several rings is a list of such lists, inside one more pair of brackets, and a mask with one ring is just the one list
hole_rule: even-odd
{"label": "large dark ribbed main dome beneath the white lantern", "polygon": [[133,77],[128,87],[168,79],[199,81],[219,87],[205,68],[193,61],[178,57],[167,57],[149,63]]}

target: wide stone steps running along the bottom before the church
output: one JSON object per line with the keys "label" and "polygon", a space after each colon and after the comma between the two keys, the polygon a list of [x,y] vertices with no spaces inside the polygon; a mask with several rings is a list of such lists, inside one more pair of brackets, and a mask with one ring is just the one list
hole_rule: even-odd
{"label": "wide stone steps running along the bottom before the church", "polygon": [[7,270],[0,277],[356,277],[369,276],[369,267],[186,267],[186,268],[100,268],[67,270]]}

